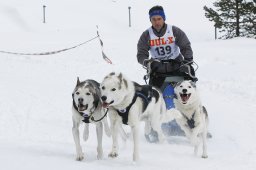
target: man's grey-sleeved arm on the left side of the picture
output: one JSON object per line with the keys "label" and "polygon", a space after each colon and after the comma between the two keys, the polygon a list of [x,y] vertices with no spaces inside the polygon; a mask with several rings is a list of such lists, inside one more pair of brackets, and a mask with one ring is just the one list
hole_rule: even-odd
{"label": "man's grey-sleeved arm on the left side of the picture", "polygon": [[140,39],[137,44],[137,60],[143,65],[143,61],[149,58],[149,33],[146,30],[140,36]]}

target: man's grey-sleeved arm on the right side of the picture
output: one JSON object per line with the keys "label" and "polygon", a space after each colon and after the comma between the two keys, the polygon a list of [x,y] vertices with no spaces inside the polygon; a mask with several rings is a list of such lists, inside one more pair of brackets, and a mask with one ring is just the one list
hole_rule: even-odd
{"label": "man's grey-sleeved arm on the right side of the picture", "polygon": [[172,29],[176,44],[180,47],[181,54],[184,56],[185,60],[193,61],[193,51],[187,35],[176,26],[173,26]]}

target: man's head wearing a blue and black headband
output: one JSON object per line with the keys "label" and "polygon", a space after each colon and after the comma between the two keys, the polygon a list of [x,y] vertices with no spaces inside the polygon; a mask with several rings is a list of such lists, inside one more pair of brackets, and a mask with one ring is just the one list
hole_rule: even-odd
{"label": "man's head wearing a blue and black headband", "polygon": [[164,21],[165,21],[165,14],[164,14],[164,9],[162,6],[154,6],[152,7],[149,12],[149,19],[150,22],[152,23],[152,26],[159,31],[163,25],[164,25]]}

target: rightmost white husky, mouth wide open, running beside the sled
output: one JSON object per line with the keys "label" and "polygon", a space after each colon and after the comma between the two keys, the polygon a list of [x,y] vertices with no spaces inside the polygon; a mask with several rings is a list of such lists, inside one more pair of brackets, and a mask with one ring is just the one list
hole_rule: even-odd
{"label": "rightmost white husky, mouth wide open, running beside the sled", "polygon": [[181,113],[181,116],[176,118],[177,123],[194,145],[195,155],[200,142],[203,142],[202,158],[207,158],[208,114],[201,104],[195,83],[188,80],[179,82],[174,88],[174,93],[175,108]]}

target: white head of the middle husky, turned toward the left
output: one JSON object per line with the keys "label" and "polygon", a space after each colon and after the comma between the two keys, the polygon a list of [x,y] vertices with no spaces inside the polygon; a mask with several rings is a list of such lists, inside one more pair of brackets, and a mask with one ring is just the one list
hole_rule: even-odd
{"label": "white head of the middle husky, turned toward the left", "polygon": [[104,108],[121,104],[124,97],[129,93],[128,82],[122,73],[110,73],[101,85],[101,100]]}

